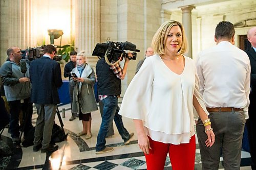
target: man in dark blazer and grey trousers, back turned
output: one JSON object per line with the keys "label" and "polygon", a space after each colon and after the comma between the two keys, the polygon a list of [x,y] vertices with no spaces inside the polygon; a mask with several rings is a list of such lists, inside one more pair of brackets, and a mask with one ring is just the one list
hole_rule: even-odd
{"label": "man in dark blazer and grey trousers, back turned", "polygon": [[[60,65],[52,60],[56,54],[53,45],[46,45],[44,56],[30,64],[32,83],[31,101],[35,103],[37,120],[33,151],[54,152],[58,145],[50,144],[57,104],[60,103],[57,88],[62,85]],[[42,137],[42,141],[41,141]]]}

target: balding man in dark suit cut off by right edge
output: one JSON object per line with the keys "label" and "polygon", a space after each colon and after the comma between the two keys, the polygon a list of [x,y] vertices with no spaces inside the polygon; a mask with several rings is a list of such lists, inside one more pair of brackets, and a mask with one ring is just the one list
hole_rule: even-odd
{"label": "balding man in dark suit cut off by right edge", "polygon": [[249,119],[246,122],[248,129],[250,154],[251,154],[251,169],[256,169],[256,27],[253,27],[247,32],[247,39],[251,43],[251,47],[245,52],[249,56],[251,63],[251,93],[249,95]]}

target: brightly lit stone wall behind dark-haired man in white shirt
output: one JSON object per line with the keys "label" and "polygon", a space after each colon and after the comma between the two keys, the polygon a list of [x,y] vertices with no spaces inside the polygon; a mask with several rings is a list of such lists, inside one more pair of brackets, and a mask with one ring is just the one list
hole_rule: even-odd
{"label": "brightly lit stone wall behind dark-haired man in white shirt", "polygon": [[[255,8],[256,2],[233,3],[231,5],[224,2],[196,8],[192,20],[193,58],[196,59],[201,50],[216,44],[214,41],[215,28],[220,21],[230,21],[236,24],[242,20],[256,19]],[[243,30],[243,33],[236,31],[236,46],[239,46],[238,35],[246,35],[248,28],[239,30]]]}

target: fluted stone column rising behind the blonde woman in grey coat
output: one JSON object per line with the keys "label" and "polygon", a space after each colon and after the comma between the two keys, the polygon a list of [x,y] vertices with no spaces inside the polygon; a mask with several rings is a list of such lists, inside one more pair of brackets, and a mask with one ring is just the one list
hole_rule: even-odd
{"label": "fluted stone column rising behind the blonde woman in grey coat", "polygon": [[100,42],[100,0],[77,0],[76,7],[75,47],[78,53],[86,51],[89,64],[95,66],[98,58],[92,52]]}

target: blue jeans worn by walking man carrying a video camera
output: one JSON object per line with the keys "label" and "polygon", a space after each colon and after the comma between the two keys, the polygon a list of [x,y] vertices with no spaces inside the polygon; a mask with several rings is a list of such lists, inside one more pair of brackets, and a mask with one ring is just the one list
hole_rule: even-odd
{"label": "blue jeans worn by walking man carrying a video camera", "polygon": [[100,125],[99,133],[97,136],[96,152],[104,150],[106,144],[106,134],[110,129],[113,119],[115,121],[117,130],[121,135],[122,139],[125,141],[129,140],[130,134],[123,127],[122,116],[118,114],[119,107],[117,105],[117,96],[109,95],[107,98],[102,100],[103,103],[103,114],[102,122]]}

